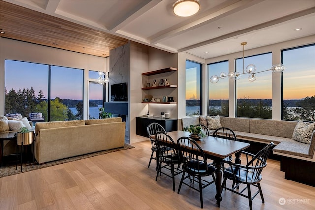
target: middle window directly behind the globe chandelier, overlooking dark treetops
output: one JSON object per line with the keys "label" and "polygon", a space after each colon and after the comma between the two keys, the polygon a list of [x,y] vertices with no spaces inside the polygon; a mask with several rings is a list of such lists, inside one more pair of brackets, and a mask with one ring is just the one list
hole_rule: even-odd
{"label": "middle window directly behind the globe chandelier, overlooking dark treetops", "polygon": [[[254,64],[256,72],[270,69],[272,53],[265,53],[236,59],[235,71],[243,73],[243,67]],[[236,80],[237,106],[236,116],[247,118],[272,119],[272,72],[266,71],[256,74],[254,82],[248,80],[248,74],[241,75]]]}

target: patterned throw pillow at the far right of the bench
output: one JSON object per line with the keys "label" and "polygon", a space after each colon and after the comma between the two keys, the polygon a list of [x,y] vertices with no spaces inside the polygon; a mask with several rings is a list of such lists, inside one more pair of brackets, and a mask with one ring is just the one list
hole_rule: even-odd
{"label": "patterned throw pillow at the far right of the bench", "polygon": [[310,144],[314,129],[315,123],[308,125],[303,121],[299,121],[294,128],[292,139],[305,144]]}

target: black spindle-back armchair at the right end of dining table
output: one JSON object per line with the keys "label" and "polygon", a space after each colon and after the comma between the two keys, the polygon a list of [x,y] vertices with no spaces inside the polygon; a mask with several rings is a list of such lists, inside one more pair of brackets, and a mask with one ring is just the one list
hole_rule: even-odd
{"label": "black spindle-back armchair at the right end of dining table", "polygon": [[[246,162],[247,162],[246,165],[227,162],[230,165],[230,167],[226,169],[224,172],[222,191],[224,188],[225,190],[229,190],[245,198],[248,198],[250,210],[252,210],[252,200],[256,197],[258,193],[260,194],[262,203],[265,203],[261,186],[260,186],[260,181],[262,180],[261,172],[263,168],[267,166],[267,157],[273,145],[274,143],[271,142],[262,150],[260,150],[256,155],[245,152],[245,151],[241,151],[242,154],[246,155]],[[252,158],[250,159],[249,157],[252,157]],[[233,181],[231,188],[226,187],[227,179]],[[242,190],[236,191],[235,189],[238,189],[240,184],[246,184],[246,186]],[[251,188],[250,188],[251,185],[258,188],[258,190],[255,192],[253,196],[252,196]],[[247,195],[243,194],[243,192],[246,189],[247,189]]]}

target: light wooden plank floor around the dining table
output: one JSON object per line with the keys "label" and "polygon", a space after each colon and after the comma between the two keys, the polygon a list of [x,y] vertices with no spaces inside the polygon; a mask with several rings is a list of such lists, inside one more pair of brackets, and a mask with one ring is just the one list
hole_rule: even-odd
{"label": "light wooden plank floor around the dining table", "polygon": [[[155,181],[155,161],[148,168],[150,142],[135,148],[0,178],[0,210],[200,209],[198,192],[182,186],[172,191],[171,179]],[[278,161],[268,160],[254,210],[314,210],[315,188],[285,180]],[[180,176],[176,177],[176,190]],[[223,191],[216,207],[215,185],[204,189],[204,209],[245,210],[246,198]],[[284,198],[284,205],[279,199]]]}

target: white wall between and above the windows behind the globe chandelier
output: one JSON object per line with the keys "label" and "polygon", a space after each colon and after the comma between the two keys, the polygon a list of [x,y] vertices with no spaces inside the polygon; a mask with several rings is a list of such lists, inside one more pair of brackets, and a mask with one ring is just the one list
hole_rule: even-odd
{"label": "white wall between and above the windows behind the globe chandelier", "polygon": [[[303,46],[315,43],[315,35],[281,42],[273,45],[263,46],[251,50],[245,50],[245,56],[257,55],[272,52],[272,63],[281,63],[281,50],[292,47]],[[243,48],[240,45],[240,49]],[[215,50],[215,49],[214,49]],[[206,63],[215,63],[229,60],[229,71],[234,71],[235,59],[243,57],[243,51],[228,54],[216,58],[207,59]],[[271,66],[270,66],[271,68]],[[266,69],[261,69],[266,70]],[[298,69],[297,69],[298,70]],[[285,71],[285,70],[284,70]],[[270,72],[271,73],[271,72]],[[271,73],[272,74],[272,73]],[[244,79],[244,78],[243,78]],[[245,78],[246,79],[246,78]],[[229,117],[235,117],[235,85],[234,80],[229,80]],[[255,91],[255,90],[253,90]],[[272,76],[272,120],[281,120],[281,74],[274,73]]]}

